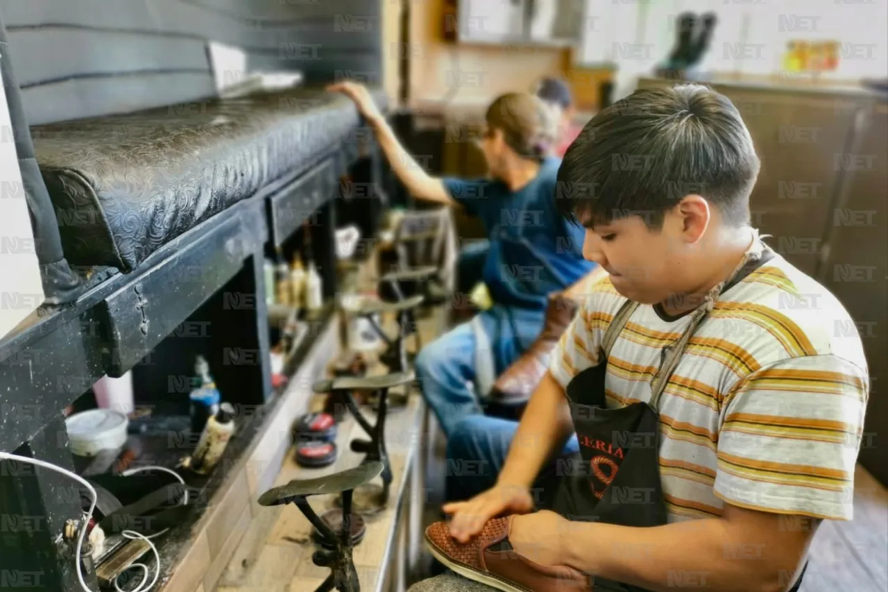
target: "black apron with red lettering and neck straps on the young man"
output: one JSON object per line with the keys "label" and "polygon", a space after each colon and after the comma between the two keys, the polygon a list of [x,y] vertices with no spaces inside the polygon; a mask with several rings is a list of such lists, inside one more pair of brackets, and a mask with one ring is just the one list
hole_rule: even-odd
{"label": "black apron with red lettering and neck straps on the young man", "polygon": [[[636,527],[667,524],[660,481],[661,434],[657,404],[688,340],[718,297],[773,257],[773,252],[766,250],[757,239],[755,244],[761,247],[747,253],[730,282],[718,284],[707,294],[701,307],[691,313],[686,331],[663,349],[660,368],[651,380],[650,401],[607,409],[607,356],[638,303],[627,300],[620,308],[602,340],[599,357],[602,362],[578,373],[567,384],[580,458],[565,462],[558,469],[560,484],[553,501],[554,511],[573,521]],[[790,592],[801,586],[804,572],[803,569]],[[594,580],[593,588],[596,592],[644,590],[599,578]]]}

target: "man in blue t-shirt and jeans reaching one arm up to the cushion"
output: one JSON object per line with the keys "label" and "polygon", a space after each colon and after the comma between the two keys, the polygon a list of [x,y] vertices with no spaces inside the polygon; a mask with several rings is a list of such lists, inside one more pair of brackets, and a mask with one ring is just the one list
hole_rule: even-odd
{"label": "man in blue t-shirt and jeans reaching one arm up to the cushion", "polygon": [[567,223],[555,205],[560,161],[547,156],[551,122],[542,102],[525,93],[496,99],[487,112],[480,148],[490,178],[436,179],[400,146],[369,92],[336,84],[376,131],[392,170],[417,199],[462,205],[483,220],[490,249],[482,280],[492,308],[426,345],[416,375],[445,434],[456,422],[482,414],[482,399],[539,334],[548,295],[575,284],[594,267],[583,260],[583,228]]}

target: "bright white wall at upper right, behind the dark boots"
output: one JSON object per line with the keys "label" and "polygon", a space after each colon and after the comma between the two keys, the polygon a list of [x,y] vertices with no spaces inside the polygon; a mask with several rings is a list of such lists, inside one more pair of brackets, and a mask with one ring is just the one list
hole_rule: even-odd
{"label": "bright white wall at upper right, behind the dark boots", "polygon": [[884,76],[888,71],[885,0],[586,0],[580,63],[614,62],[615,98],[628,94],[669,55],[680,12],[715,12],[718,27],[701,69],[769,76],[782,68],[792,39],[842,43],[836,79]]}

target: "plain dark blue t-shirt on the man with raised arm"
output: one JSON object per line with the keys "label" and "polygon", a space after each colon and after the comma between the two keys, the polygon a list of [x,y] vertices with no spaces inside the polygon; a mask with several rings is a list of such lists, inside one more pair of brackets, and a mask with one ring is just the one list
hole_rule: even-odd
{"label": "plain dark blue t-shirt on the man with raised arm", "polygon": [[450,195],[484,223],[490,251],[482,279],[498,304],[542,309],[595,267],[583,259],[585,231],[555,208],[559,158],[549,158],[519,191],[498,180],[444,179]]}

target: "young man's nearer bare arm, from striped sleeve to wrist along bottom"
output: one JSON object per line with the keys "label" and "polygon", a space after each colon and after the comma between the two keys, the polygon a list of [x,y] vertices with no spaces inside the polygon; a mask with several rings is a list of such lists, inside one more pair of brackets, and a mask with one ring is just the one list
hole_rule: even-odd
{"label": "young man's nearer bare arm, from striped sleeve to wrist along bottom", "polygon": [[795,582],[818,522],[725,504],[721,518],[651,528],[565,521],[558,539],[570,541],[562,545],[565,564],[656,592],[782,592]]}

